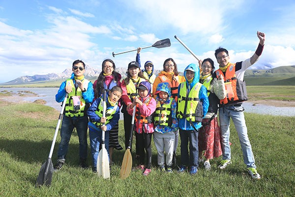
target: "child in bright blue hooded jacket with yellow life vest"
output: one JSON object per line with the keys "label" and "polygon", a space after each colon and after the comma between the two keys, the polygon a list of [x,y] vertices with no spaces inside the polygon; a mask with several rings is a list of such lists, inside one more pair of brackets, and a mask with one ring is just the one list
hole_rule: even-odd
{"label": "child in bright blue hooded jacket with yellow life vest", "polygon": [[[185,82],[178,86],[177,118],[180,134],[181,166],[178,172],[184,172],[190,166],[190,174],[198,172],[198,131],[202,127],[209,100],[207,89],[199,83],[200,68],[195,64],[184,70]],[[189,142],[189,153],[188,153]]]}

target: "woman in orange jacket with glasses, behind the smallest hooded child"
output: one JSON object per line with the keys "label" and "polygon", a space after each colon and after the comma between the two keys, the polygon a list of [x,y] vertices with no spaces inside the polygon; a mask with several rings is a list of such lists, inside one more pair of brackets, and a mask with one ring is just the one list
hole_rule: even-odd
{"label": "woman in orange jacket with glasses, behind the smallest hooded child", "polygon": [[[156,92],[159,83],[168,82],[171,87],[171,97],[177,101],[178,85],[186,81],[184,76],[180,76],[177,71],[177,64],[172,58],[164,61],[163,70],[159,73],[152,86],[153,92]],[[154,98],[156,95],[153,96]],[[173,165],[176,166],[176,150],[178,145],[178,130],[175,131],[175,146],[173,153]]]}

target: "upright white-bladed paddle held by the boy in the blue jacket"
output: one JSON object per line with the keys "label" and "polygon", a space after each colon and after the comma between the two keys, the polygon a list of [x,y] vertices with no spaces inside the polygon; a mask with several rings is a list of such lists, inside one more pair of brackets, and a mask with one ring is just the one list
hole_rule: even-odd
{"label": "upright white-bladed paddle held by the boy in the blue jacket", "polygon": [[[107,94],[107,91],[104,91],[103,92],[103,111],[102,111],[103,117],[106,117],[106,108],[107,108],[106,94]],[[105,123],[102,123],[102,125],[105,125]],[[102,132],[101,150],[98,153],[96,170],[97,170],[98,176],[102,176],[103,178],[107,179],[107,178],[110,178],[110,163],[109,163],[108,151],[105,147],[106,131],[101,131],[101,132]]]}

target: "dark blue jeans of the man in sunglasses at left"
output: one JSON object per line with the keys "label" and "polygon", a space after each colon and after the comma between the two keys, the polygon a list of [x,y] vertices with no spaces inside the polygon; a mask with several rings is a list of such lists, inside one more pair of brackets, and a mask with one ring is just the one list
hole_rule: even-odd
{"label": "dark blue jeans of the man in sunglasses at left", "polygon": [[76,128],[79,137],[79,155],[80,161],[87,159],[87,129],[88,117],[70,118],[63,116],[60,130],[60,143],[58,151],[58,161],[64,162],[68,151],[69,141],[72,132]]}

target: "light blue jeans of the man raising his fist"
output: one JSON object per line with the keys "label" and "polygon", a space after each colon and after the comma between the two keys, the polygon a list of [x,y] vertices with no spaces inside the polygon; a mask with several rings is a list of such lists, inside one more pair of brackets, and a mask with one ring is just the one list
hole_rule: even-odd
{"label": "light blue jeans of the man raising his fist", "polygon": [[244,117],[243,106],[225,106],[219,109],[219,122],[221,129],[221,147],[223,160],[231,160],[230,147],[230,118],[236,127],[236,132],[242,148],[244,163],[247,167],[254,167],[255,160],[252,147],[248,138],[247,126]]}

